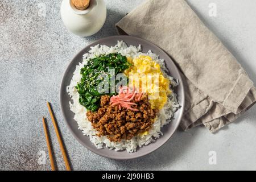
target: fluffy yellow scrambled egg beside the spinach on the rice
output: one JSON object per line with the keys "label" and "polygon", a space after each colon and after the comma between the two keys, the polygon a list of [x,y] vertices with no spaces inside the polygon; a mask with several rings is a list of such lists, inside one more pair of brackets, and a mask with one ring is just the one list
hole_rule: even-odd
{"label": "fluffy yellow scrambled egg beside the spinach on the rice", "polygon": [[127,60],[133,64],[125,71],[126,76],[129,77],[129,85],[133,84],[136,88],[139,87],[141,92],[148,94],[152,109],[162,109],[171,90],[170,80],[163,76],[160,65],[150,56],[144,55],[134,59],[127,57]]}

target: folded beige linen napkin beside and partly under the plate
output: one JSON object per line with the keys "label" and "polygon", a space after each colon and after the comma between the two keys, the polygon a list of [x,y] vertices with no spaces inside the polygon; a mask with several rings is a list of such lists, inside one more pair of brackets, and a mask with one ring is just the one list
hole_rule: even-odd
{"label": "folded beige linen napkin beside and partly under the plate", "polygon": [[253,82],[184,0],[146,1],[116,27],[119,34],[156,44],[179,66],[186,92],[184,130],[203,124],[217,131],[255,104]]}

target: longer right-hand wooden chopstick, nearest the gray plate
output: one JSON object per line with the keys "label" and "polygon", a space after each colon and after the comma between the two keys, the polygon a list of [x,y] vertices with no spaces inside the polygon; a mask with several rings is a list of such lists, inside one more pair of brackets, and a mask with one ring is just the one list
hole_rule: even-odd
{"label": "longer right-hand wooden chopstick, nearest the gray plate", "polygon": [[55,129],[55,133],[56,133],[57,139],[58,139],[59,144],[60,144],[60,150],[61,150],[61,153],[63,155],[63,159],[64,159],[64,162],[65,162],[65,167],[66,167],[67,171],[71,171],[71,167],[69,166],[69,162],[68,162],[67,153],[66,153],[65,148],[63,146],[63,142],[62,142],[62,139],[60,137],[59,130],[57,128],[57,123],[55,121],[55,117],[53,115],[52,108],[49,105],[49,102],[47,102],[47,107],[48,107],[48,110],[49,110],[49,114],[51,115],[51,118],[52,118],[52,123],[53,123],[53,127]]}

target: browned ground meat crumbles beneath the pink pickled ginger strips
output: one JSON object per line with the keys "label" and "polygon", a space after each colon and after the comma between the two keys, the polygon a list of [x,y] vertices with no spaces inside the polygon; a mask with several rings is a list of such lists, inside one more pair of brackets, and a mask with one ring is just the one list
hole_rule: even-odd
{"label": "browned ground meat crumbles beneath the pink pickled ginger strips", "polygon": [[151,109],[147,94],[143,94],[141,101],[132,111],[122,107],[110,105],[110,96],[101,97],[101,107],[95,111],[87,111],[86,116],[92,126],[98,131],[98,136],[108,136],[112,142],[131,139],[151,129],[156,117],[156,110]]}

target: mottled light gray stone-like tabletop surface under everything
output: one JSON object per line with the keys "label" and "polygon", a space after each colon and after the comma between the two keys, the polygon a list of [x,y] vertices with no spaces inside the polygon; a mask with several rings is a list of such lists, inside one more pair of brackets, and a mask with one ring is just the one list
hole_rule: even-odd
{"label": "mottled light gray stone-like tabletop surface under everything", "polygon": [[[187,0],[208,27],[237,57],[256,82],[256,1]],[[46,16],[40,17],[40,3]],[[208,15],[209,3],[217,17]],[[256,107],[217,134],[204,127],[177,131],[162,148],[130,161],[105,159],[82,147],[73,138],[60,111],[61,77],[72,57],[94,40],[116,35],[114,24],[134,9],[139,0],[106,0],[108,17],[102,30],[90,38],[72,35],[63,26],[60,0],[0,2],[0,169],[49,170],[39,165],[46,151],[41,118],[52,103],[73,169],[256,169]],[[200,35],[199,35],[200,36]],[[65,169],[59,144],[49,130],[59,169]],[[208,152],[217,152],[217,165],[209,165]]]}

